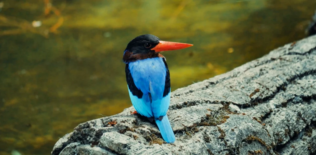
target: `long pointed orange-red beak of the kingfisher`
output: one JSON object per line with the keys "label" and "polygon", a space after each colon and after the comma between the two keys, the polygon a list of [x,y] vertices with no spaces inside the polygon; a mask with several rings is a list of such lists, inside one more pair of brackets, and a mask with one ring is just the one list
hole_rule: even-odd
{"label": "long pointed orange-red beak of the kingfisher", "polygon": [[175,43],[175,42],[159,41],[158,45],[156,45],[151,50],[155,50],[155,52],[172,51],[172,50],[177,50],[177,49],[185,49],[185,48],[188,48],[191,46],[193,46],[193,45],[188,44],[188,43]]}

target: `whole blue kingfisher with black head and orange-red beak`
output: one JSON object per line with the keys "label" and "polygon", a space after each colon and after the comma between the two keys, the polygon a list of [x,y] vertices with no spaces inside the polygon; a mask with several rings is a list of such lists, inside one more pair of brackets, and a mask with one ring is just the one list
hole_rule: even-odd
{"label": "whole blue kingfisher with black head and orange-red beak", "polygon": [[188,43],[161,41],[151,34],[132,39],[123,54],[129,96],[135,110],[150,122],[155,120],[161,136],[167,143],[175,141],[167,111],[170,105],[170,73],[162,51],[184,49]]}

